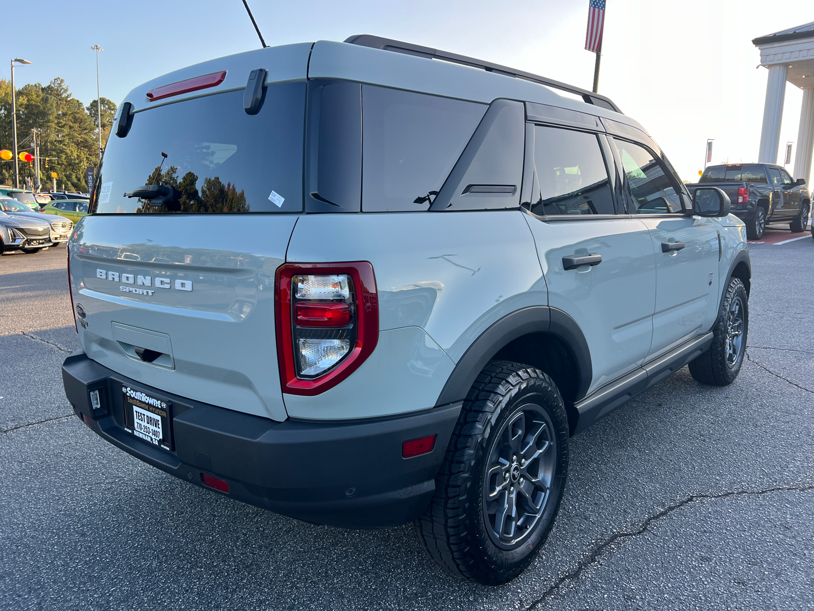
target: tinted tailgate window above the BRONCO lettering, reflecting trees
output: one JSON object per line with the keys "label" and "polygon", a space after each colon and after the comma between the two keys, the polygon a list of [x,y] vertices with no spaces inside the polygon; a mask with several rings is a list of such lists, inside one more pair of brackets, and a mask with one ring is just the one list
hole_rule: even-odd
{"label": "tinted tailgate window above the BRONCO lettering, reflecting trees", "polygon": [[[137,112],[125,138],[107,140],[94,211],[300,212],[304,112],[302,82],[268,86],[256,115],[243,110],[243,90]],[[173,201],[122,195],[157,182]]]}

